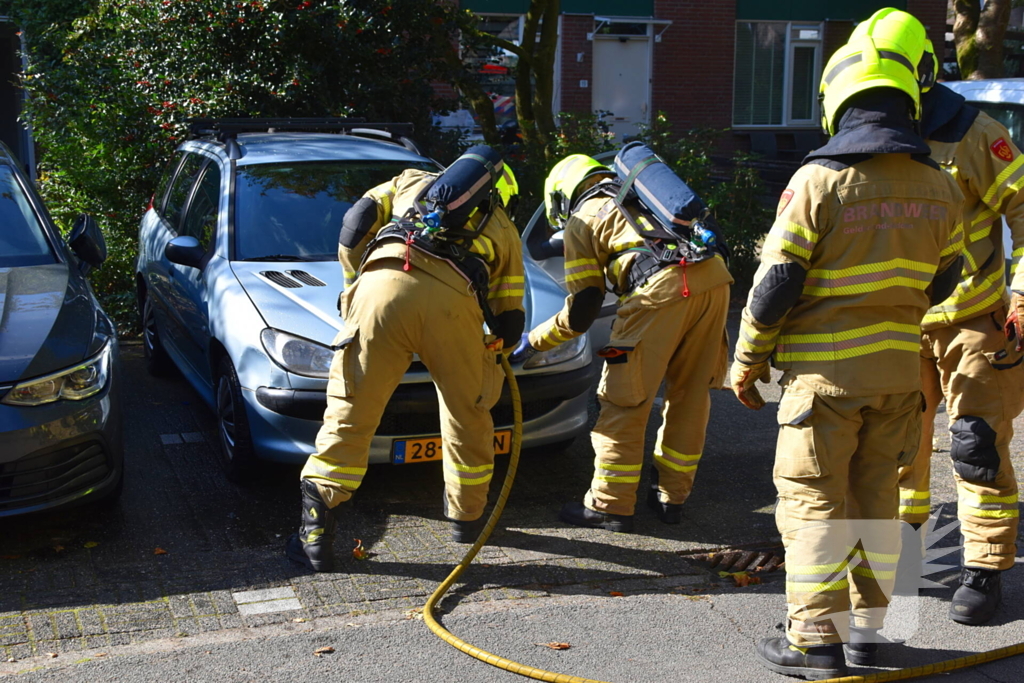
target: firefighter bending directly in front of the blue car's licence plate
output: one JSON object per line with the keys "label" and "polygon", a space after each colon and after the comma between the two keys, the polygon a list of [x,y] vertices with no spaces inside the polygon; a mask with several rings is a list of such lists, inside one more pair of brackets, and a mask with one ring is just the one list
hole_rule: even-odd
{"label": "firefighter bending directly in front of the blue car's licence plate", "polygon": [[440,395],[453,539],[475,541],[494,471],[498,353],[511,352],[525,322],[522,245],[503,206],[516,191],[501,157],[478,145],[440,175],[404,171],[345,214],[338,247],[345,326],[332,344],[316,453],[302,469],[291,559],[333,569],[336,507],[362,481],[371,439],[414,354]]}

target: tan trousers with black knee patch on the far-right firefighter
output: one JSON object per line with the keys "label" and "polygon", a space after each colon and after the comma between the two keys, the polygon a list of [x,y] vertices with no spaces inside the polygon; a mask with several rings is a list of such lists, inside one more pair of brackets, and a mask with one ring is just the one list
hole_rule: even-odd
{"label": "tan trousers with black knee patch on the far-right firefighter", "polygon": [[928,521],[935,414],[946,400],[964,565],[1009,569],[1020,517],[1010,460],[1013,420],[1024,407],[1024,365],[1002,333],[1006,310],[978,315],[922,337],[921,378],[928,410],[921,452],[900,470],[900,518]]}

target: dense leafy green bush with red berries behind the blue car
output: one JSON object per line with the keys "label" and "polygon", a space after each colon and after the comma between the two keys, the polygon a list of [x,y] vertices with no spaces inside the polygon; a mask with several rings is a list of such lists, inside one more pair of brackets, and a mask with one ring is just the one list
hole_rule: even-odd
{"label": "dense leafy green bush with red berries behind the blue car", "polygon": [[[111,258],[94,286],[122,322],[137,221],[188,118],[361,116],[429,131],[431,109],[451,105],[430,83],[453,80],[471,22],[432,0],[3,0],[0,11],[32,38],[23,82],[40,190],[65,226],[81,211],[99,218]],[[437,141],[444,156],[460,143]]]}

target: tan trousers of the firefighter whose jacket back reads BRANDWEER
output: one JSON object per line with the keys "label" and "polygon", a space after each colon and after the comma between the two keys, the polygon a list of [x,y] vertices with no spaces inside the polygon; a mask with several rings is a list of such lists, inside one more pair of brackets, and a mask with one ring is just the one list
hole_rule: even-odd
{"label": "tan trousers of the firefighter whose jacket back reads BRANDWEER", "polygon": [[786,636],[846,642],[880,629],[900,550],[898,467],[921,440],[918,391],[827,396],[783,378],[773,478],[785,546]]}

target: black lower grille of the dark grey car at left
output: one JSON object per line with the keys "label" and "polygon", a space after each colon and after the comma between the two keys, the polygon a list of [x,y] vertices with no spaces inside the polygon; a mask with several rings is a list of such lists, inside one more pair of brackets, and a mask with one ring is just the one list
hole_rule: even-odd
{"label": "black lower grille of the dark grey car at left", "polygon": [[0,510],[63,498],[99,483],[110,471],[103,446],[96,441],[0,464]]}

